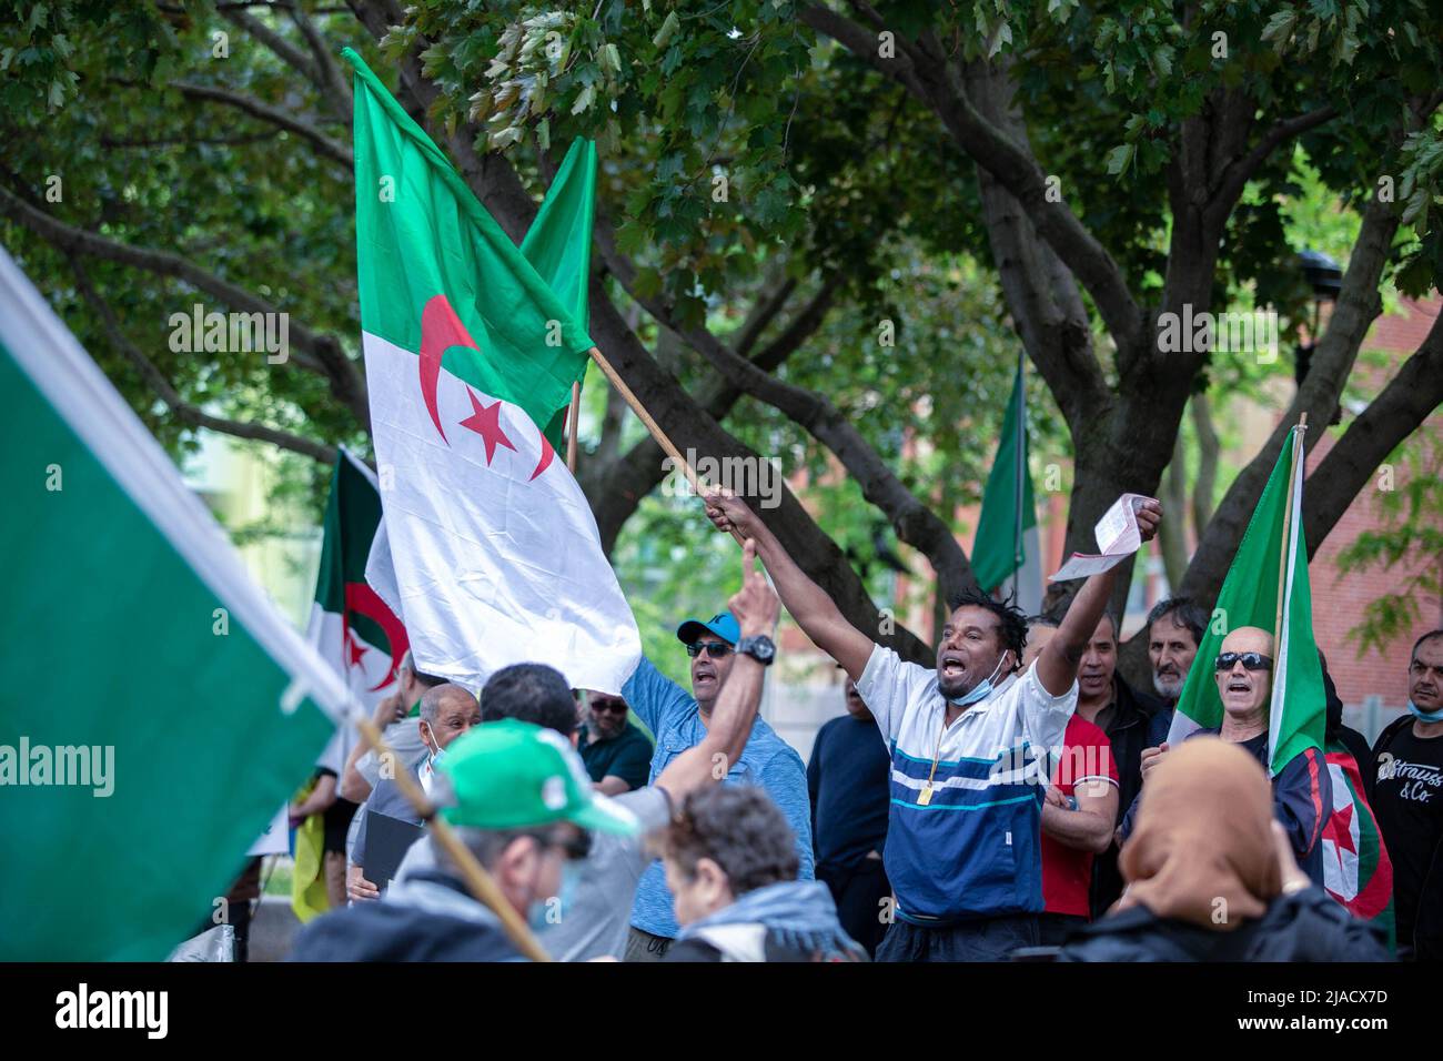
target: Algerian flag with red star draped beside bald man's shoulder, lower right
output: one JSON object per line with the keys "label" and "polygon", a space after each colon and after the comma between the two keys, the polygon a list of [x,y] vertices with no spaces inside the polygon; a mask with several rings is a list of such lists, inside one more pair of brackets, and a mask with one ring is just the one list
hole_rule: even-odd
{"label": "Algerian flag with red star draped beside bald man's shoulder, lower right", "polygon": [[1354,917],[1382,927],[1391,947],[1392,862],[1364,797],[1358,761],[1341,741],[1329,742],[1325,758],[1333,805],[1323,823],[1323,888]]}

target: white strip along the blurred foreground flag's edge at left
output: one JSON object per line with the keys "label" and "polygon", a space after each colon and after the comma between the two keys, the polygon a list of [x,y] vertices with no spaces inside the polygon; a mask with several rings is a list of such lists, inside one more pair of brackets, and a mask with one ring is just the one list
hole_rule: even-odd
{"label": "white strip along the blurred foreground flag's edge at left", "polygon": [[160,443],[4,248],[0,248],[0,320],[6,346],[20,371],[30,377],[95,460],[215,592],[229,618],[290,674],[291,689],[339,719],[346,697],[335,674],[251,580],[205,502],[185,485]]}

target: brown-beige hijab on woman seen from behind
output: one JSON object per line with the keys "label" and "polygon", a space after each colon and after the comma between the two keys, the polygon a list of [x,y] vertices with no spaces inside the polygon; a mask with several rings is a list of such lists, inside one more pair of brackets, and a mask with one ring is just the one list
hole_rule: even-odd
{"label": "brown-beige hijab on woman seen from behind", "polygon": [[1147,778],[1113,909],[1141,904],[1221,933],[1263,917],[1281,891],[1271,829],[1273,790],[1247,751],[1215,736],[1179,745]]}

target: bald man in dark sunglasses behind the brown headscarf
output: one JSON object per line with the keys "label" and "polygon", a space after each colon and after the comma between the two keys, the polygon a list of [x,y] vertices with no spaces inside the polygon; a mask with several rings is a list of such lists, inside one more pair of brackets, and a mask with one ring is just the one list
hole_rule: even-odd
{"label": "bald man in dark sunglasses behind the brown headscarf", "polygon": [[[1268,767],[1267,709],[1273,697],[1273,635],[1257,626],[1238,626],[1222,639],[1214,661],[1222,725],[1199,729],[1245,748],[1263,768]],[[1121,839],[1133,831],[1139,803],[1147,795],[1147,775],[1167,755],[1167,745],[1143,752],[1143,791],[1137,794],[1120,827]],[[1323,883],[1323,823],[1333,808],[1328,764],[1317,748],[1294,755],[1273,778],[1273,814],[1287,831],[1297,865],[1315,885]],[[1224,813],[1225,808],[1224,808]]]}

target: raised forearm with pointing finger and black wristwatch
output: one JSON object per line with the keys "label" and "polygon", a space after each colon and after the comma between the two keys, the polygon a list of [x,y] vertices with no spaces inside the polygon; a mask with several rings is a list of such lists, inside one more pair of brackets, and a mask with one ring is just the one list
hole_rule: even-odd
{"label": "raised forearm with pointing finger and black wristwatch", "polygon": [[[776,631],[776,616],[781,605],[776,593],[766,585],[766,576],[756,570],[756,543],[750,538],[742,547],[742,589],[727,602],[736,616],[742,637],[772,637]],[[672,759],[654,781],[665,788],[672,804],[678,804],[687,793],[706,784],[722,781],[732,764],[742,758],[752,736],[756,709],[762,703],[762,680],[766,667],[750,655],[737,652],[716,706],[711,709],[711,723],[701,742]]]}

